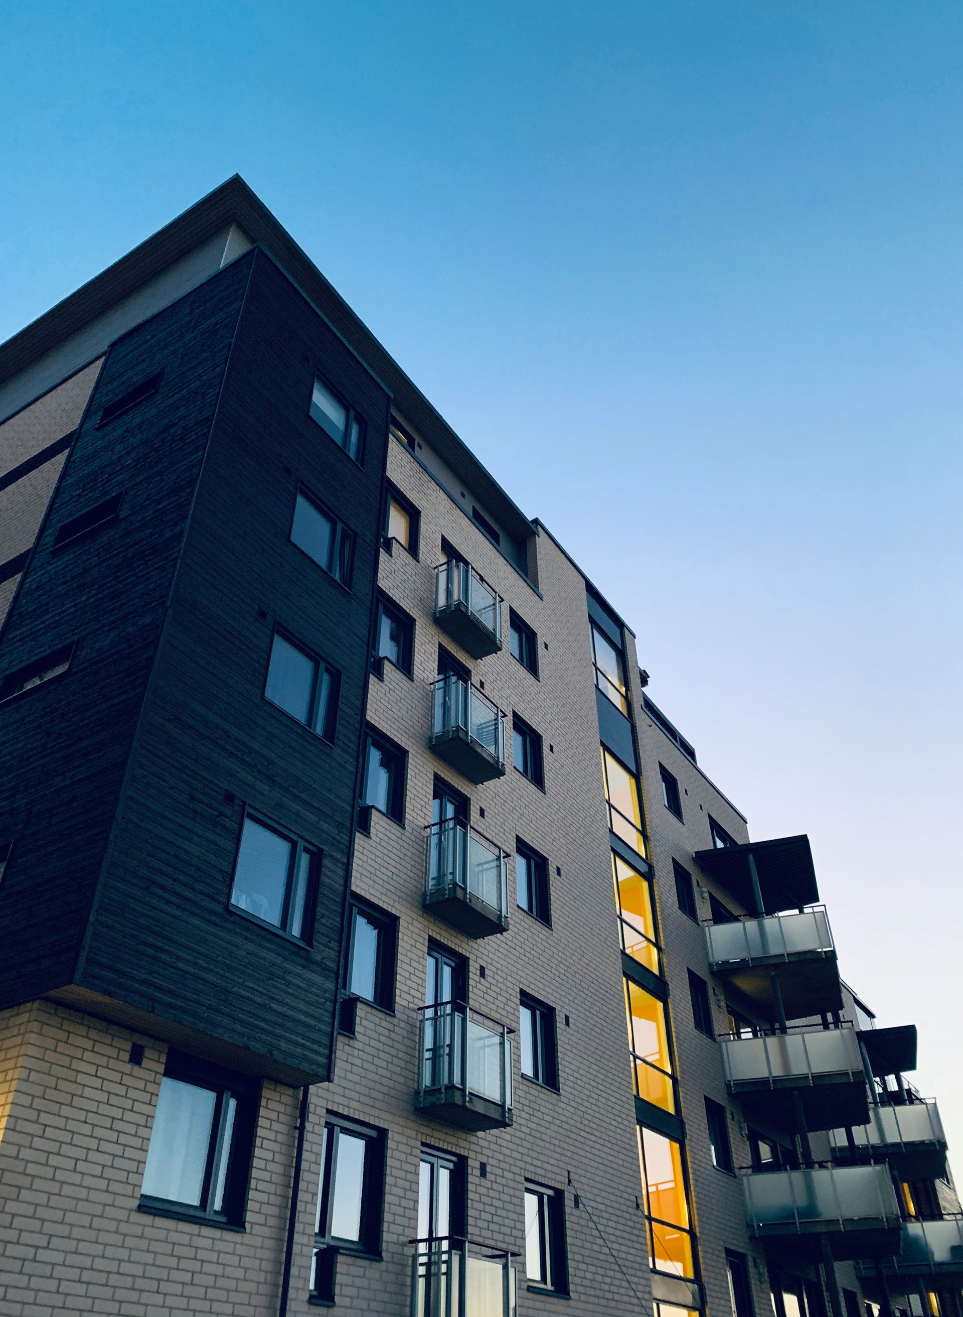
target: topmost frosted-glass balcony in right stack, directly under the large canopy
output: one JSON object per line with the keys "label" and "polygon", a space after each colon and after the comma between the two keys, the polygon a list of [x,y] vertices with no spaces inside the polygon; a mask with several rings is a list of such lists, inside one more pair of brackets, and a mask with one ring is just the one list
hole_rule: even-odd
{"label": "topmost frosted-glass balcony in right stack, directly under the large canopy", "polygon": [[705,942],[712,972],[766,1019],[779,1019],[774,979],[787,1019],[842,1009],[835,947],[822,906],[706,925]]}

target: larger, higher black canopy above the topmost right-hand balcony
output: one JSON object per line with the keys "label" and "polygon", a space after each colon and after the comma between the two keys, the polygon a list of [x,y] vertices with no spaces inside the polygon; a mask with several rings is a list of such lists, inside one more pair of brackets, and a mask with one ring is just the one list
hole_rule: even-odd
{"label": "larger, higher black canopy above the topmost right-hand balcony", "polygon": [[745,846],[696,851],[693,859],[703,873],[731,892],[746,910],[759,914],[750,856],[755,861],[764,914],[800,910],[820,900],[813,855],[805,832],[801,836],[780,836],[772,842],[747,842]]}

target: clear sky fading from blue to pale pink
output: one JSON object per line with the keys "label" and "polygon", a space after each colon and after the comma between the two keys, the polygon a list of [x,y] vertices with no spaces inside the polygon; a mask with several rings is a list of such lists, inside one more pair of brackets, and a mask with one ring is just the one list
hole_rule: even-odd
{"label": "clear sky fading from blue to pale pink", "polygon": [[239,173],[638,635],[963,1171],[963,7],[8,4],[0,340]]}

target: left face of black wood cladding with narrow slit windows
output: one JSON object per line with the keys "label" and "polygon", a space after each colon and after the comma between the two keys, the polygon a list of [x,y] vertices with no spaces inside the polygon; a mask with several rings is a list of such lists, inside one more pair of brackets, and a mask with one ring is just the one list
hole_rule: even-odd
{"label": "left face of black wood cladding with narrow slit windows", "polygon": [[[0,674],[76,641],[70,673],[0,707],[0,1006],[68,984],[157,652],[253,258],[118,340],[0,636]],[[158,394],[97,428],[163,369]],[[53,551],[57,527],[125,491],[121,516]]]}

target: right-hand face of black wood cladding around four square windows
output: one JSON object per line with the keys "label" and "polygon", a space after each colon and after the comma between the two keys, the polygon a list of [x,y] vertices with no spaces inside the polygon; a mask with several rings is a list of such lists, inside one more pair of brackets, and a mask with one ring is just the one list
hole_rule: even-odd
{"label": "right-hand face of black wood cladding around four square windows", "polygon": [[[316,370],[366,420],[363,466],[308,415]],[[388,412],[259,253],[79,979],[314,1077],[330,1064]],[[289,541],[299,481],[357,533],[350,593]],[[333,745],[263,698],[275,624],[342,673]],[[228,907],[245,802],[324,851],[309,948]]]}

